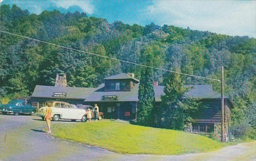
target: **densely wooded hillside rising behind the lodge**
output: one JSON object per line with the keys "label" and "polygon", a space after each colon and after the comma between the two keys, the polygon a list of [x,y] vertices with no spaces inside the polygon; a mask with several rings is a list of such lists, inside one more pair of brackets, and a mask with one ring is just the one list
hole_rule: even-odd
{"label": "densely wooded hillside rising behind the lodge", "polygon": [[[230,26],[232,27],[232,26]],[[220,79],[225,68],[225,94],[237,107],[255,110],[256,39],[227,36],[175,26],[127,25],[109,23],[85,13],[43,11],[30,14],[17,6],[2,5],[0,28],[3,31],[59,44],[69,48],[147,65],[145,53],[154,54],[150,65]],[[49,44],[0,34],[0,97],[30,95],[35,85],[53,85],[56,73],[66,73],[69,86],[97,87],[104,77],[134,72],[135,66],[100,58]],[[136,66],[140,78],[141,67]],[[166,72],[154,70],[154,81],[163,84]],[[182,77],[185,84],[220,83]],[[246,102],[248,102],[248,104]],[[240,117],[240,116],[239,116]],[[255,115],[254,115],[255,117]],[[235,117],[234,117],[235,118]]]}

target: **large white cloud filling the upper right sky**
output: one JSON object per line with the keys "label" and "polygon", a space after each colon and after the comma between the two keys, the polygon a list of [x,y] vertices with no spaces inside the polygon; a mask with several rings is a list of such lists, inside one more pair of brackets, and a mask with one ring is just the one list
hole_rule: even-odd
{"label": "large white cloud filling the upper right sky", "polygon": [[155,1],[144,14],[160,25],[256,37],[256,1]]}

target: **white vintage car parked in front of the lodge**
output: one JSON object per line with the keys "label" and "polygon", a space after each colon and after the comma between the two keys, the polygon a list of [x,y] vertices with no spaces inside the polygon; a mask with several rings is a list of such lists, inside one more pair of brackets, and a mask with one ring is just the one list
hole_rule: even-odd
{"label": "white vintage car parked in front of the lodge", "polygon": [[[67,102],[60,102],[60,101],[47,101],[47,103],[51,104],[51,117],[53,121],[59,121],[59,119],[65,120],[81,120],[82,122],[87,121],[86,111],[83,109],[77,109],[74,106],[70,105]],[[46,106],[41,107],[38,110],[38,115],[44,120],[46,115]]]}

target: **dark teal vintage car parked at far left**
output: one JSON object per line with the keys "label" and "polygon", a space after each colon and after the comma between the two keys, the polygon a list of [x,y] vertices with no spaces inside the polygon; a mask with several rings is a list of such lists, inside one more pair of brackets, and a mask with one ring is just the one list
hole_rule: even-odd
{"label": "dark teal vintage car parked at far left", "polygon": [[28,105],[25,100],[11,100],[6,105],[1,105],[0,112],[3,114],[14,113],[14,115],[30,114],[35,115],[36,108]]}

